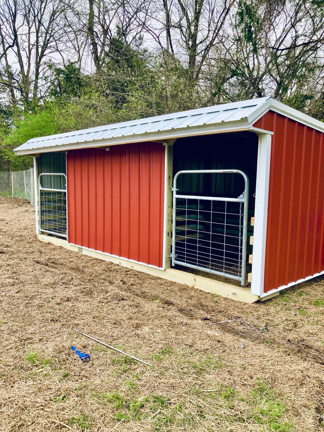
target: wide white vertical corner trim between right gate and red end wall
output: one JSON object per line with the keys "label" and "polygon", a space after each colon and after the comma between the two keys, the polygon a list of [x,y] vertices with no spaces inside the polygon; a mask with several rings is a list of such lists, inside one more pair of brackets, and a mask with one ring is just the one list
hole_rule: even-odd
{"label": "wide white vertical corner trim between right gate and red end wall", "polygon": [[257,150],[257,181],[255,190],[251,293],[260,295],[260,297],[264,295],[270,154],[271,135],[259,135],[259,144]]}

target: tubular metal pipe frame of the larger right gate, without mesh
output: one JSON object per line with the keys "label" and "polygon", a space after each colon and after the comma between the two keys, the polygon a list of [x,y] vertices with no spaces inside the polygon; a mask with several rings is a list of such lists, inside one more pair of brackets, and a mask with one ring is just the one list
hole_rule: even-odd
{"label": "tubular metal pipe frame of the larger right gate, without mesh", "polygon": [[[241,198],[223,198],[223,197],[198,197],[195,195],[177,195],[177,179],[181,174],[240,174],[244,178],[244,197]],[[245,286],[245,273],[246,273],[246,242],[248,237],[248,190],[249,190],[249,181],[248,176],[245,172],[239,169],[196,169],[196,170],[182,170],[178,171],[173,179],[173,226],[172,226],[172,266],[175,265],[175,217],[176,217],[176,199],[177,198],[189,198],[189,199],[204,199],[204,200],[218,200],[218,201],[232,201],[232,202],[241,202],[244,203],[243,207],[243,238],[242,238],[242,260],[241,260],[241,285]],[[197,268],[194,266],[188,266]],[[206,271],[206,269],[205,269]],[[213,272],[222,275],[221,272]],[[224,276],[224,275],[223,275]]]}

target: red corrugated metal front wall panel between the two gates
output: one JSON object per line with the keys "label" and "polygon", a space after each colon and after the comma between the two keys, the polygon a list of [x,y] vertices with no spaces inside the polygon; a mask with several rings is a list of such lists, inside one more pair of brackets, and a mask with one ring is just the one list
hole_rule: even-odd
{"label": "red corrugated metal front wall panel between the two gates", "polygon": [[69,242],[163,266],[165,146],[67,153]]}

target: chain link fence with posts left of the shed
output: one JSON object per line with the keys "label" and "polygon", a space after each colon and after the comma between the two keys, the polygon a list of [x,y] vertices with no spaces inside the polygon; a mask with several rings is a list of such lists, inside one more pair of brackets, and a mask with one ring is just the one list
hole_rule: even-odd
{"label": "chain link fence with posts left of the shed", "polygon": [[0,196],[25,198],[35,205],[34,169],[0,171]]}

